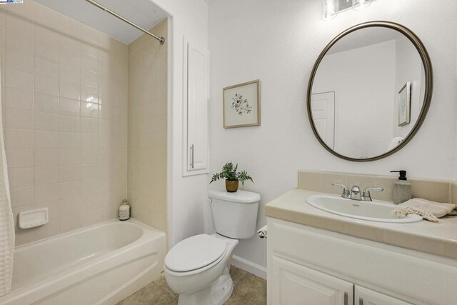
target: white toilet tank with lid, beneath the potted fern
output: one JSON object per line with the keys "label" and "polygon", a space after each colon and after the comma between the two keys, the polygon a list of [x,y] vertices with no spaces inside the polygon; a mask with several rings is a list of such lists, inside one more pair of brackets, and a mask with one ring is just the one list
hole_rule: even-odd
{"label": "white toilet tank with lid, beneath the potted fern", "polygon": [[208,192],[213,224],[218,234],[231,239],[250,239],[256,234],[258,201],[260,195],[238,190],[229,193],[225,189]]}

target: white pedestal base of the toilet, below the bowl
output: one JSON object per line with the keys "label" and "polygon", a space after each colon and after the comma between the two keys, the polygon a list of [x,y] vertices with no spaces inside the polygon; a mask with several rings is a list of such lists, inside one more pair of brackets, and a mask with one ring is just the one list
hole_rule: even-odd
{"label": "white pedestal base of the toilet, below the bowl", "polygon": [[178,305],[222,305],[229,299],[233,291],[230,274],[222,274],[213,284],[194,294],[180,294]]}

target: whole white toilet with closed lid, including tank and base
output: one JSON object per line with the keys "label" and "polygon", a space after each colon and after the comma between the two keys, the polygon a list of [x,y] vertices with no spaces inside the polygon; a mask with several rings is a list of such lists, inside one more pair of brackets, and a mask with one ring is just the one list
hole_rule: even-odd
{"label": "whole white toilet with closed lid, including tank and base", "polygon": [[165,257],[165,278],[179,294],[180,305],[219,305],[229,299],[233,283],[230,257],[238,239],[256,234],[260,195],[249,191],[209,191],[215,234],[179,242]]}

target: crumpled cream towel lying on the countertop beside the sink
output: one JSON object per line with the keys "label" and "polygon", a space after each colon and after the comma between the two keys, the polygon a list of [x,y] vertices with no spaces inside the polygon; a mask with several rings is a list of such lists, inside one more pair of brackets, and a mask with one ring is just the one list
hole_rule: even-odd
{"label": "crumpled cream towel lying on the countertop beside the sink", "polygon": [[405,218],[408,214],[417,214],[422,216],[422,219],[440,222],[438,218],[448,214],[455,215],[456,211],[454,211],[454,209],[456,209],[455,204],[441,204],[426,199],[413,198],[403,202],[403,204],[398,204],[398,206],[393,209],[392,214],[400,218]]}

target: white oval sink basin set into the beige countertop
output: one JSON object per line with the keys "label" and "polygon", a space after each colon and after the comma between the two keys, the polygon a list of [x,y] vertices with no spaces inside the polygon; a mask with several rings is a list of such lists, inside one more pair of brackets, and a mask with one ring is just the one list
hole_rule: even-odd
{"label": "white oval sink basin set into the beige countertop", "polygon": [[358,201],[335,195],[313,195],[309,196],[306,202],[322,211],[355,219],[395,223],[422,220],[421,216],[415,214],[409,214],[405,218],[392,215],[391,211],[396,208],[396,205],[387,201]]}

